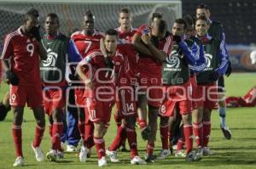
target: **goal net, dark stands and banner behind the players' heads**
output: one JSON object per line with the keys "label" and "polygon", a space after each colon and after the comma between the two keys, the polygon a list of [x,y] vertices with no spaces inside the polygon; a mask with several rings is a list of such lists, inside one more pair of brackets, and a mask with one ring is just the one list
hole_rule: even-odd
{"label": "goal net, dark stands and banner behind the players' heads", "polygon": [[[118,26],[119,8],[129,7],[133,14],[133,26],[148,23],[150,14],[161,12],[166,16],[169,29],[173,21],[185,14],[195,14],[199,3],[206,3],[211,10],[212,20],[219,20],[224,25],[226,42],[230,51],[230,60],[235,71],[255,71],[252,65],[251,51],[256,50],[256,1],[254,0],[0,0],[0,38],[22,24],[22,17],[33,7],[41,14],[41,25],[44,25],[46,14],[55,12],[61,20],[61,32],[70,34],[74,28],[81,27],[84,12],[90,8],[96,15],[96,29],[106,31]],[[43,30],[43,29],[42,29]],[[0,50],[2,49],[2,43]],[[256,59],[256,56],[254,56]]]}

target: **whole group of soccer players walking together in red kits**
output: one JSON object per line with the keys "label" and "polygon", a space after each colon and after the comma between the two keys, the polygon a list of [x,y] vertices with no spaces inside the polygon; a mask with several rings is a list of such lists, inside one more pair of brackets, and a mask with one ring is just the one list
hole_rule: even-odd
{"label": "whole group of soccer players walking together in red kits", "polygon": [[[5,37],[1,56],[14,110],[13,166],[24,165],[21,125],[26,104],[37,122],[32,149],[39,162],[44,161],[40,144],[45,114],[51,138],[45,156],[49,161],[64,158],[61,135],[67,109],[78,112],[73,127],[79,129],[81,162],[90,158],[93,146],[98,166],[108,165],[106,156],[119,162],[117,151],[125,149],[126,139],[131,164],[165,159],[172,155],[173,144],[177,144],[175,155],[189,162],[211,155],[212,110],[218,109],[224,136],[231,138],[222,100],[223,76],[229,76],[231,69],[222,25],[209,16],[207,6],[199,5],[195,19],[177,19],[171,31],[164,19],[167,16],[160,13],[135,29],[131,11],[121,8],[120,26],[102,33],[95,30],[95,16],[88,10],[83,29],[67,37],[59,32],[58,15],[50,13],[41,37],[38,10],[29,10],[23,25]],[[104,136],[112,112],[117,135],[106,147]],[[155,155],[158,118],[162,149]],[[138,155],[137,126],[147,141],[145,158]]]}

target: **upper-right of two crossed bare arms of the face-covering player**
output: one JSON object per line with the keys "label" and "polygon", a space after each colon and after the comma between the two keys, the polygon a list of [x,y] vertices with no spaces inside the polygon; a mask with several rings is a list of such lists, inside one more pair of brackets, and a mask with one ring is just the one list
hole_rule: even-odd
{"label": "upper-right of two crossed bare arms of the face-covering player", "polygon": [[147,45],[148,50],[151,53],[150,55],[152,55],[155,59],[160,60],[161,62],[166,60],[167,54],[154,47],[154,44],[150,41],[148,34],[144,34],[142,36],[142,40]]}

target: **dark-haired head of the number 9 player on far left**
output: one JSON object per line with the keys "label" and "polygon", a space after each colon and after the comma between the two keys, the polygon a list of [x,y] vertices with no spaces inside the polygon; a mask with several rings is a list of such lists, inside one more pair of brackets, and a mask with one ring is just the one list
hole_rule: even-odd
{"label": "dark-haired head of the number 9 player on far left", "polygon": [[26,31],[30,31],[33,26],[37,26],[39,23],[39,13],[35,8],[31,8],[26,12],[24,16],[24,25]]}

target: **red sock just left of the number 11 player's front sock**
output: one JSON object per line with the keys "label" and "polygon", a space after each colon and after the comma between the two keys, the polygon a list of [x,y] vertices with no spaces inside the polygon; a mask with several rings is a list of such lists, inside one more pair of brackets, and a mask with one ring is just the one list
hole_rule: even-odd
{"label": "red sock just left of the number 11 player's front sock", "polygon": [[89,123],[85,123],[84,147],[86,147],[87,149],[90,149],[94,146],[93,131],[94,131],[93,123],[91,121]]}

